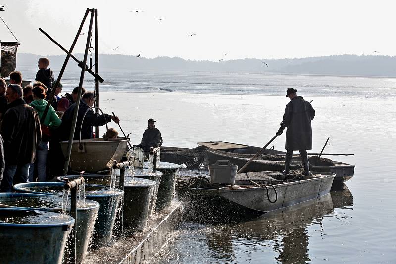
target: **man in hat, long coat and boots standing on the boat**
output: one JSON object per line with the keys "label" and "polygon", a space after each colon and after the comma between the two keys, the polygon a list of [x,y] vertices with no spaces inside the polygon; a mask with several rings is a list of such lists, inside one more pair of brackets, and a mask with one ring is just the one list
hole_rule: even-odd
{"label": "man in hat, long coat and boots standing on the boat", "polygon": [[290,163],[293,157],[293,150],[298,150],[304,164],[305,176],[311,176],[309,171],[309,162],[307,149],[312,149],[312,126],[311,120],[315,116],[315,110],[312,105],[305,101],[301,96],[297,96],[297,90],[289,88],[286,97],[290,102],[286,105],[285,114],[276,135],[281,135],[286,130],[286,146],[285,170],[283,174],[290,173]]}

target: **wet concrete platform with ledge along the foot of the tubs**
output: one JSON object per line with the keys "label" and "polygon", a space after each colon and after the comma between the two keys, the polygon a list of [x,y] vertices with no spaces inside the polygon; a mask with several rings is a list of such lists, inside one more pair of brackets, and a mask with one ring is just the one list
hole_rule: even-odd
{"label": "wet concrete platform with ledge along the foot of the tubs", "polygon": [[152,215],[143,232],[116,239],[108,246],[90,251],[83,264],[143,264],[159,252],[176,231],[181,223],[181,212],[181,204],[173,201],[169,207]]}

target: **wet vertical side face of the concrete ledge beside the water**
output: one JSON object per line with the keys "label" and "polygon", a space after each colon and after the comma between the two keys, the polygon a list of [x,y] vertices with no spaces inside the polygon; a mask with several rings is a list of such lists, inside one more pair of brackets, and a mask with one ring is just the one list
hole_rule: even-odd
{"label": "wet vertical side face of the concrete ledge beside the water", "polygon": [[179,204],[135,248],[127,252],[118,264],[143,264],[158,253],[179,227],[181,215],[182,207]]}

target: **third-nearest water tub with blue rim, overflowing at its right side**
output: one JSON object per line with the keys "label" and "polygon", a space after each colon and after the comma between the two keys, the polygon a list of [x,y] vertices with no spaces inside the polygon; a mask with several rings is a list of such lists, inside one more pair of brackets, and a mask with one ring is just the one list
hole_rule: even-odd
{"label": "third-nearest water tub with blue rim, overflowing at its right side", "polygon": [[[14,189],[17,192],[62,195],[63,186],[61,182],[32,182],[16,184]],[[118,204],[124,192],[92,184],[86,184],[85,190],[85,197],[100,205],[93,236],[93,247],[98,247],[111,240]]]}

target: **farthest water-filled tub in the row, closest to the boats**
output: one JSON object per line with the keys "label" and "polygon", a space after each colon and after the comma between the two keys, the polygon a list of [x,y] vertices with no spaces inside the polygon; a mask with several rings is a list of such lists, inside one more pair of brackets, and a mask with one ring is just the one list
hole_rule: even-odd
{"label": "farthest water-filled tub in the row, closest to the boats", "polygon": [[[170,162],[159,162],[157,171],[162,172],[161,182],[158,186],[157,203],[155,210],[161,210],[169,206],[175,198],[175,179],[179,171],[179,165]],[[148,168],[148,162],[145,162],[144,169]]]}

